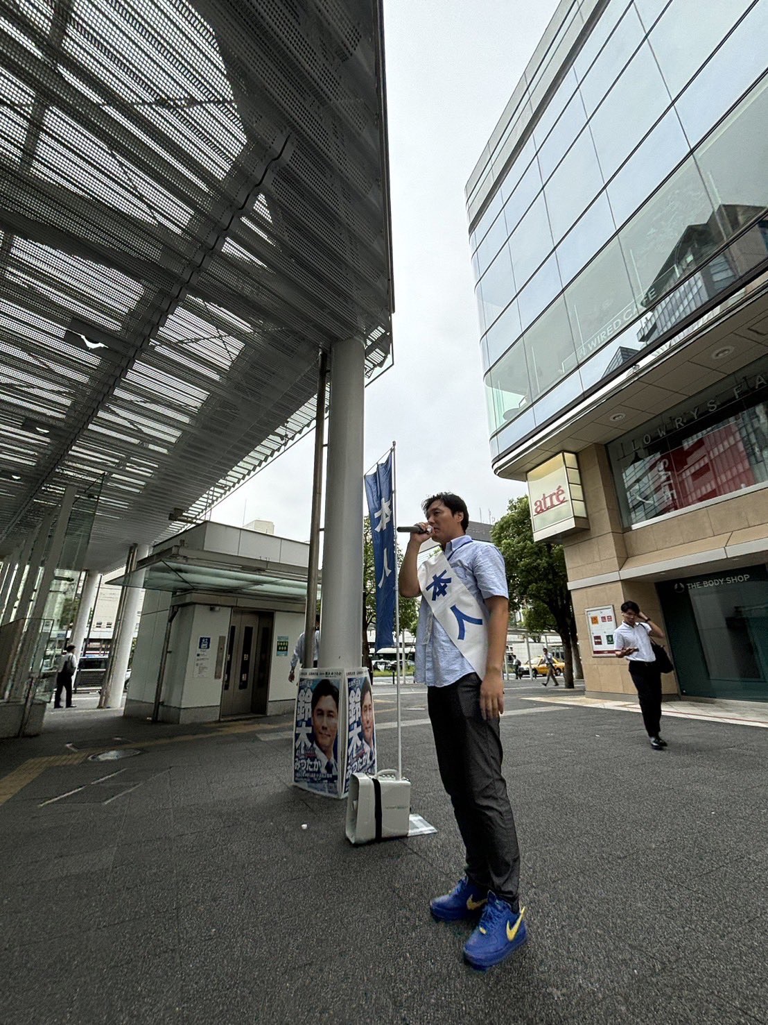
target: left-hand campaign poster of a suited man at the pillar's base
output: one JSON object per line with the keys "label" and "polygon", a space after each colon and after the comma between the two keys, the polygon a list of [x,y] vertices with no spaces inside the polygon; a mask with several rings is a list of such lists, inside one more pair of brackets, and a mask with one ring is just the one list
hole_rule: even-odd
{"label": "left-hand campaign poster of a suited man at the pillar's base", "polygon": [[343,796],[339,783],[344,779],[340,764],[345,751],[345,704],[343,669],[302,668],[294,726],[296,786],[328,797]]}

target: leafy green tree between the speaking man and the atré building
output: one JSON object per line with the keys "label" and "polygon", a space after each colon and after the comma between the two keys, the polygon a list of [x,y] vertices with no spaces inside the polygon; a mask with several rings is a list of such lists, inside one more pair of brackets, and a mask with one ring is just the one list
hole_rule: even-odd
{"label": "leafy green tree between the speaking man and the atr\u00e9 building", "polygon": [[494,525],[492,537],[504,556],[512,609],[536,609],[538,603],[546,606],[562,642],[564,684],[572,687],[574,670],[582,675],[582,662],[562,545],[534,540],[525,496],[510,501],[507,512]]}

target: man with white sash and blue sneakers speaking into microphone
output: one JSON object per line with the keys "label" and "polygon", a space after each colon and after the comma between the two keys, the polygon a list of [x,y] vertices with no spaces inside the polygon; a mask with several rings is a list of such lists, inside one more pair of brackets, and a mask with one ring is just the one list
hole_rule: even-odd
{"label": "man with white sash and blue sneakers speaking into microphone", "polygon": [[[399,590],[422,598],[415,675],[427,685],[440,778],[466,848],[463,878],[450,894],[433,898],[430,908],[443,921],[476,919],[482,911],[464,956],[487,969],[527,938],[499,729],[509,591],[501,551],[466,533],[462,498],[440,492],[422,509],[426,522],[411,534]],[[439,550],[417,567],[419,549],[430,539]]]}

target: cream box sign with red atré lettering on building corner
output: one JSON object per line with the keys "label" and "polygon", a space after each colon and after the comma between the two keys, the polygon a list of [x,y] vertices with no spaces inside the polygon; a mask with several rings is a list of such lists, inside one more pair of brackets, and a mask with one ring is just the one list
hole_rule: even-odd
{"label": "cream box sign with red atr\u00e9 lettering on building corner", "polygon": [[582,477],[572,452],[560,452],[527,475],[534,540],[589,528]]}

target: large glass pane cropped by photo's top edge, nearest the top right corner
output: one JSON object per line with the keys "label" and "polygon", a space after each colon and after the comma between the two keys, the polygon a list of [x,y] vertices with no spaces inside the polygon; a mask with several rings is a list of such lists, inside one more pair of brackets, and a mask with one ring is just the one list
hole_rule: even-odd
{"label": "large glass pane cropped by photo's top edge, nearest the top right corner", "polygon": [[691,80],[751,3],[752,0],[720,3],[673,0],[649,37],[673,96]]}

